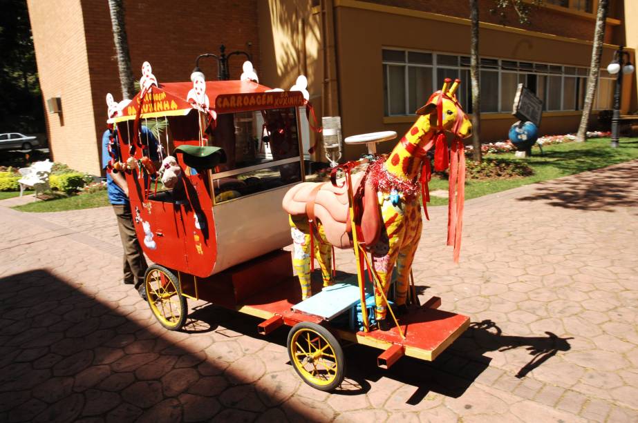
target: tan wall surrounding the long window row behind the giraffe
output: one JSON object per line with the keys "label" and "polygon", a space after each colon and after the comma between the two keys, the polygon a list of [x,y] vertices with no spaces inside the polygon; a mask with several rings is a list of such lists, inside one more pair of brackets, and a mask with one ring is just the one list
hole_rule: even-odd
{"label": "tan wall surrounding the long window row behind the giraffe", "polygon": [[[469,55],[467,19],[387,6],[375,5],[374,9],[362,6],[362,2],[350,2],[336,9],[344,137],[379,130],[396,130],[402,135],[415,120],[411,116],[384,117],[382,48]],[[612,60],[616,48],[605,45],[602,68]],[[591,54],[592,44],[588,41],[481,23],[480,55],[484,57],[588,67]],[[635,90],[628,78],[624,90],[629,94],[632,89]],[[574,132],[580,116],[579,111],[544,112],[541,133]],[[481,137],[486,142],[506,139],[507,129],[516,121],[505,113],[482,113],[481,117]],[[391,145],[379,150],[386,152],[389,148]],[[363,152],[364,148],[349,148],[347,157]]]}

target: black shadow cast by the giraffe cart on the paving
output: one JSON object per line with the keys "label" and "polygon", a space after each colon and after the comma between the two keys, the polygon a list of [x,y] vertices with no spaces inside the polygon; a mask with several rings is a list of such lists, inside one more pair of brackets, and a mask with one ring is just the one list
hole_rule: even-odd
{"label": "black shadow cast by the giraffe cart on the paving", "polygon": [[[230,333],[243,334],[259,340],[265,339],[283,348],[290,330],[283,326],[264,338],[256,332],[256,326],[261,319],[227,311],[225,308],[214,305],[196,309],[189,315],[189,319],[197,320],[200,324],[209,327],[221,324]],[[448,397],[460,397],[489,366],[491,358],[483,355],[489,351],[527,349],[531,358],[516,374],[516,377],[522,378],[559,351],[570,349],[567,340],[571,338],[561,338],[550,332],[545,334],[547,336],[541,337],[503,335],[503,331],[491,320],[475,322],[434,362],[402,357],[389,370],[377,367],[377,356],[380,350],[357,344],[344,344],[346,380],[341,388],[333,393],[337,395],[368,393],[371,382],[379,382],[382,378],[386,378],[413,386],[414,392],[406,401],[407,404],[419,404],[429,392]],[[290,362],[288,365],[291,365]]]}

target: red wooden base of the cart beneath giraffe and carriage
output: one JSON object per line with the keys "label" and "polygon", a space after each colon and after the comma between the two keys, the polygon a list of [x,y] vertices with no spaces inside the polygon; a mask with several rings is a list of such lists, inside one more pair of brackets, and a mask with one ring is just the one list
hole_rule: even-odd
{"label": "red wooden base of the cart beneath giraffe and carriage", "polygon": [[[312,283],[312,292],[315,294],[321,293],[323,288],[319,279],[315,278]],[[469,326],[469,317],[438,310],[438,301],[427,302],[425,306],[412,309],[399,319],[405,340],[396,327],[390,331],[353,332],[331,326],[328,319],[346,310],[349,305],[356,304],[358,297],[352,291],[352,288],[358,291],[356,275],[338,282],[343,284],[338,284],[337,288],[341,286],[348,291],[348,298],[344,298],[344,301],[322,306],[321,297],[331,295],[319,294],[306,300],[304,306],[299,306],[299,311],[294,311],[293,306],[301,303],[301,287],[299,279],[292,276],[290,253],[283,250],[234,266],[209,278],[194,278],[180,273],[182,293],[268,320],[264,322],[265,326],[259,328],[261,333],[268,333],[282,324],[294,326],[299,322],[313,322],[326,326],[342,340],[384,351],[393,348],[390,351],[393,355],[408,355],[431,361]],[[348,284],[350,288],[346,286]],[[355,299],[354,303],[352,299]],[[344,302],[348,304],[342,304]]]}

